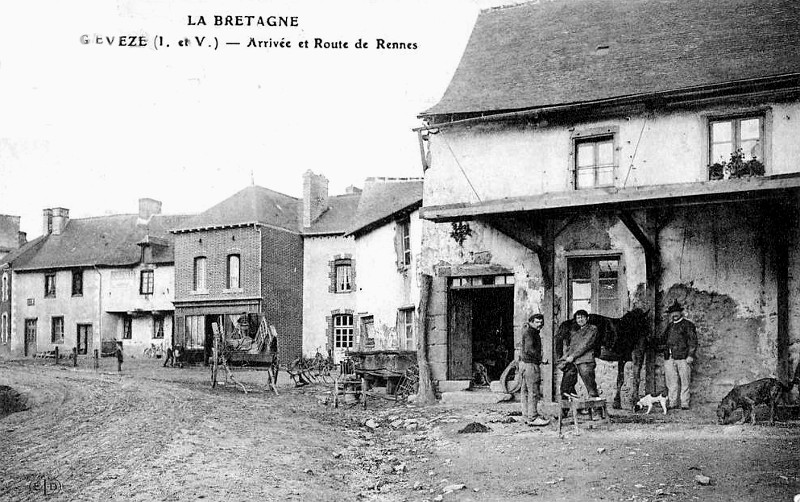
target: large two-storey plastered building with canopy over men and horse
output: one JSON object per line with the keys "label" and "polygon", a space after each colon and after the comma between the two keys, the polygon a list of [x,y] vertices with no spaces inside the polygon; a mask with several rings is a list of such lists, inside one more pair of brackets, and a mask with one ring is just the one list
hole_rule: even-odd
{"label": "large two-storey plastered building with canopy over men and horse", "polygon": [[[482,12],[421,114],[434,377],[510,361],[533,313],[553,362],[552,333],[579,308],[640,307],[660,333],[678,300],[699,329],[698,402],[788,379],[800,358],[798,25],[786,0]],[[615,365],[598,369],[609,397]],[[659,365],[648,354],[643,387],[627,392],[656,390]],[[545,366],[548,398],[558,378]]]}

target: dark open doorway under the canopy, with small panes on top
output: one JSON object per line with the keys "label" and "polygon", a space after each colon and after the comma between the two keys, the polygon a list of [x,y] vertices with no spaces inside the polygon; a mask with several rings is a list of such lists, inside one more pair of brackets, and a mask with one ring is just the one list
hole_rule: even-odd
{"label": "dark open doorway under the canopy, with small panes on top", "polygon": [[472,380],[479,363],[498,380],[514,359],[514,285],[505,277],[451,280],[448,379]]}

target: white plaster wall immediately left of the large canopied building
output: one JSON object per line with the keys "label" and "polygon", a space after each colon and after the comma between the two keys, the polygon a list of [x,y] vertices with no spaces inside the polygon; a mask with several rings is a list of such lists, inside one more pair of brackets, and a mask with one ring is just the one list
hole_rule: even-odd
{"label": "white plaster wall immediately left of the large canopied building", "polygon": [[357,313],[374,316],[376,348],[401,348],[396,329],[399,308],[413,306],[416,319],[419,306],[417,268],[422,242],[419,211],[410,215],[409,225],[411,265],[402,272],[397,270],[396,264],[396,221],[356,239]]}

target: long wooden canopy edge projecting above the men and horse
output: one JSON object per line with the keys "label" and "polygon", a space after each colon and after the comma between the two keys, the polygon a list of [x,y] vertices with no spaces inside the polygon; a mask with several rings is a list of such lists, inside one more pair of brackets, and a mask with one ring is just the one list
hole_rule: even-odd
{"label": "long wooden canopy edge projecting above the men and horse", "polygon": [[587,210],[633,210],[651,207],[719,204],[775,198],[800,189],[800,173],[699,181],[630,188],[595,188],[542,195],[506,197],[475,203],[426,206],[420,216],[435,222],[463,221],[521,213],[570,214]]}

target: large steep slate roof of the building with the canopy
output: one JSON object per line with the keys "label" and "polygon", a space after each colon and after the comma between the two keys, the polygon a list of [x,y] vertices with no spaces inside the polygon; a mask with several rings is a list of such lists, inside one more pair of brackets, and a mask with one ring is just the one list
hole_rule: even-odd
{"label": "large steep slate roof of the building with the canopy", "polygon": [[798,74],[799,27],[797,0],[553,0],[487,10],[441,101],[421,116]]}

